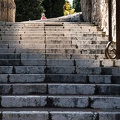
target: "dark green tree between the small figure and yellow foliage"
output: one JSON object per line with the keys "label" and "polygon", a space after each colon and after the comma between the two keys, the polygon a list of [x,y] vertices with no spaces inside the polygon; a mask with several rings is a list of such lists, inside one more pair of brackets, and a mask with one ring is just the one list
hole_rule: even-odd
{"label": "dark green tree between the small figure and yellow foliage", "polygon": [[47,18],[63,16],[63,5],[65,0],[44,0],[42,6],[46,10]]}

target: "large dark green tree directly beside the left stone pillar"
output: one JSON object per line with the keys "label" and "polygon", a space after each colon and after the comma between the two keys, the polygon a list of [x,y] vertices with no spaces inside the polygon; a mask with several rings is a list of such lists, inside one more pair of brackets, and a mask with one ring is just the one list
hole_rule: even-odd
{"label": "large dark green tree directly beside the left stone pillar", "polygon": [[40,19],[44,8],[41,6],[43,0],[15,0],[16,21],[28,21]]}

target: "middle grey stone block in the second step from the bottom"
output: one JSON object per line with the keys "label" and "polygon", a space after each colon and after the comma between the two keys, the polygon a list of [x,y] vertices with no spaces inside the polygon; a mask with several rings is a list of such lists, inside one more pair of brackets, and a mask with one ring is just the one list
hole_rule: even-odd
{"label": "middle grey stone block in the second step from the bottom", "polygon": [[49,96],[48,100],[51,107],[86,108],[89,104],[88,97],[78,96]]}

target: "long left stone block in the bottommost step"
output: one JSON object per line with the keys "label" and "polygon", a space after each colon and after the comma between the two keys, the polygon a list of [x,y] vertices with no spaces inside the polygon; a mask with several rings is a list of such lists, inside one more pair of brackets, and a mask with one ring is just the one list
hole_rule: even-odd
{"label": "long left stone block in the bottommost step", "polygon": [[38,111],[6,111],[2,113],[2,120],[49,120],[48,112]]}

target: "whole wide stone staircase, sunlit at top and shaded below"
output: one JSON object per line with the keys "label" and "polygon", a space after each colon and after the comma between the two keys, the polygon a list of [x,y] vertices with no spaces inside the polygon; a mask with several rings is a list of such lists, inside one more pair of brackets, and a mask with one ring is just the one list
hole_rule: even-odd
{"label": "whole wide stone staircase, sunlit at top and shaded below", "polygon": [[119,120],[120,61],[90,23],[0,23],[0,120]]}

